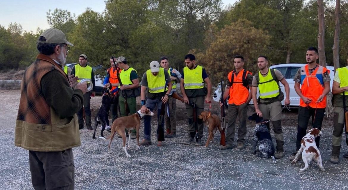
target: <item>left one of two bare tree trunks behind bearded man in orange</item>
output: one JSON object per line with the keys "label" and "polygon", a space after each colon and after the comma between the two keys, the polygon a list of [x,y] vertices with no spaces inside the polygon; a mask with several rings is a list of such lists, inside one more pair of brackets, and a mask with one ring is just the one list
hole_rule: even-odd
{"label": "left one of two bare tree trunks behind bearded man in orange", "polygon": [[[325,57],[325,23],[324,23],[324,2],[318,0],[318,21],[319,21],[319,33],[318,33],[318,51],[319,51],[319,64],[326,67]],[[326,96],[326,117],[327,119],[333,119],[333,107],[331,104],[332,93],[329,92]]]}

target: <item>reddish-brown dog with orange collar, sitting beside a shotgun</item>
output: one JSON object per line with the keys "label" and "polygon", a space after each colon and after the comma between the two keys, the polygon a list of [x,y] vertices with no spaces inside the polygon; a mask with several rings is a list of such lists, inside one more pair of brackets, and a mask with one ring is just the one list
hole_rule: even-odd
{"label": "reddish-brown dog with orange collar, sitting beside a shotgun", "polygon": [[202,111],[202,113],[198,116],[198,118],[203,119],[203,122],[205,122],[205,124],[208,126],[208,131],[209,131],[209,135],[208,135],[208,140],[205,143],[205,148],[208,147],[209,142],[211,140],[214,140],[214,129],[217,130],[219,129],[219,131],[221,131],[221,122],[219,119],[219,116],[215,115],[215,114],[211,114],[208,111]]}

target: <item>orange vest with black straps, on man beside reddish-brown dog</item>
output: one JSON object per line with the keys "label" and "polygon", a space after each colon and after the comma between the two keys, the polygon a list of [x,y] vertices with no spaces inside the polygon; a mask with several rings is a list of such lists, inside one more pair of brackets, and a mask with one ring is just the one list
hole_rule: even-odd
{"label": "orange vest with black straps, on man beside reddish-brown dog", "polygon": [[246,102],[249,96],[249,87],[246,81],[246,76],[252,73],[243,69],[236,75],[236,71],[231,71],[228,74],[228,80],[232,83],[230,88],[230,99],[228,104],[241,105]]}

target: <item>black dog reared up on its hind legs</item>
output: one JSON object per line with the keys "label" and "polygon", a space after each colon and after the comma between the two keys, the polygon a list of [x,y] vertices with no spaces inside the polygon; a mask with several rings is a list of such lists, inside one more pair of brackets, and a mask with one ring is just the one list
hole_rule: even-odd
{"label": "black dog reared up on its hind legs", "polygon": [[114,95],[110,91],[109,88],[103,88],[103,96],[102,96],[102,104],[99,107],[99,110],[97,112],[97,115],[94,118],[94,133],[93,133],[93,139],[95,139],[95,131],[97,129],[98,124],[102,124],[102,131],[100,132],[101,134],[101,139],[105,139],[103,132],[105,130],[105,125],[106,125],[106,120],[108,118],[108,112],[111,107],[111,103],[113,102]]}

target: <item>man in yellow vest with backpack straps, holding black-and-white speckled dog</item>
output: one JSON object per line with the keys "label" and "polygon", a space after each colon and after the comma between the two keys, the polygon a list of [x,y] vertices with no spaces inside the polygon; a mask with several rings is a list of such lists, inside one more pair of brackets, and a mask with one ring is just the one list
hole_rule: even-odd
{"label": "man in yellow vest with backpack straps, holding black-and-white speckled dog", "polygon": [[[282,130],[282,100],[284,94],[280,90],[279,82],[284,85],[286,99],[285,105],[290,105],[290,88],[282,73],[276,69],[267,67],[268,58],[266,56],[258,57],[258,67],[260,71],[256,73],[252,81],[252,96],[256,114],[263,119],[271,119],[273,132],[276,138],[276,153],[274,157],[280,159],[284,155],[284,135]],[[256,92],[259,88],[260,97],[256,99]],[[270,131],[269,122],[267,128]]]}

